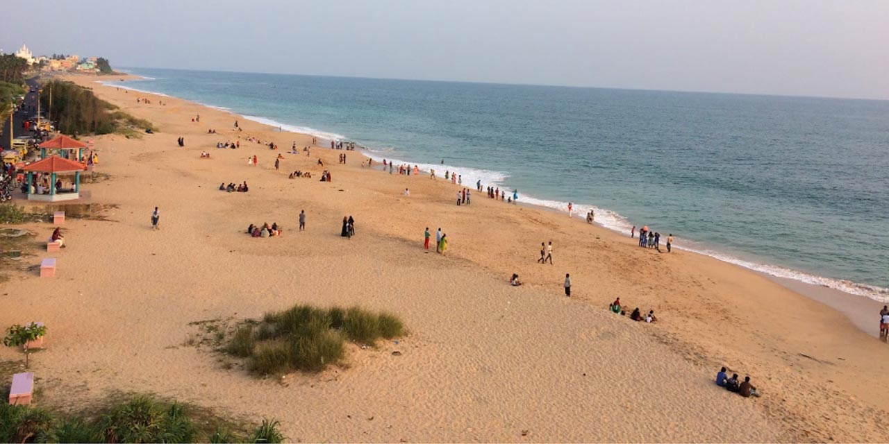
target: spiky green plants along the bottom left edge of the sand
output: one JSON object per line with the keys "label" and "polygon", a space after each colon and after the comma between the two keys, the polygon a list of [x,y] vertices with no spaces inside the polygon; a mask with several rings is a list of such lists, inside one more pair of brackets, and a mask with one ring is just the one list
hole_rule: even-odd
{"label": "spiky green plants along the bottom left edge of the sand", "polygon": [[0,404],[0,442],[262,442],[285,440],[275,420],[245,426],[205,408],[147,395],[68,416],[35,406]]}

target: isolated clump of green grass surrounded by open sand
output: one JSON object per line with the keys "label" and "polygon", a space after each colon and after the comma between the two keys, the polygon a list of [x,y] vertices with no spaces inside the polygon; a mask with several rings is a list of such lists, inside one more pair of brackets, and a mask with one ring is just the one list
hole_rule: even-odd
{"label": "isolated clump of green grass surrounded by open sand", "polygon": [[373,346],[380,338],[401,337],[404,332],[404,323],[390,313],[295,305],[267,313],[260,322],[244,323],[225,350],[246,358],[248,369],[260,375],[317,372],[342,361],[346,340]]}

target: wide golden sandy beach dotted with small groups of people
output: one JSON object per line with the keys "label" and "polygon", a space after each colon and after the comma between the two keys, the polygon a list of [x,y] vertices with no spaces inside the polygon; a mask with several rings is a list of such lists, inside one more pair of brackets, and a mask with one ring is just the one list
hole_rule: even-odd
{"label": "wide golden sandy beach dotted with small groups of people", "polygon": [[[94,77],[71,80],[159,131],[94,138],[95,170],[109,178],[84,189],[108,205],[107,220],[69,218],[68,248],[22,259],[58,258],[55,278],[22,272],[0,284],[0,324],[49,329],[46,350],[31,358],[40,405],[154,392],[275,417],[294,441],[886,440],[889,400],[879,388],[889,347],[856,326],[867,328],[863,317],[714,258],[639,249],[629,235],[555,211],[475,190],[470,205],[456,206],[461,187],[365,168],[359,151],[346,152],[346,165],[329,147],[287,153],[294,141],[310,146],[307,135]],[[216,148],[235,141],[239,149]],[[313,178],[288,179],[293,170]],[[323,170],[332,182],[318,181]],[[249,193],[218,190],[244,181]],[[159,231],[149,221],[155,207]],[[356,219],[351,239],[340,237],[344,216]],[[263,222],[284,234],[244,234]],[[52,232],[49,223],[21,227],[35,244]],[[423,250],[426,227],[447,234],[445,256]],[[540,265],[539,245],[550,241],[554,265]],[[525,285],[509,286],[513,273]],[[610,313],[615,297],[659,321]],[[387,310],[410,334],[351,346],[345,368],[281,379],[227,368],[212,347],[189,345],[202,334],[195,322],[256,319],[297,303]],[[876,321],[875,312],[874,330]],[[0,361],[19,360],[0,349]],[[722,366],[749,375],[763,396],[714,385]]]}

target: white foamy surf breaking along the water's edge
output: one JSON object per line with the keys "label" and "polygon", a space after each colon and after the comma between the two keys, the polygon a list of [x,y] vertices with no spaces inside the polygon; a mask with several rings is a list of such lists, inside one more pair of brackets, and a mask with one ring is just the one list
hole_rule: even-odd
{"label": "white foamy surf breaking along the water's edge", "polygon": [[[143,75],[134,75],[132,73],[126,73],[125,80],[137,80],[137,81],[138,80],[153,80],[153,78],[146,77]],[[105,86],[111,86],[110,84],[102,83],[104,81],[101,81],[101,80],[97,80],[97,82],[99,82],[100,84],[104,84]],[[123,85],[117,85],[117,86],[124,87]],[[156,94],[156,95],[160,95],[163,97],[173,97],[173,96],[169,96],[167,94],[159,93],[159,92],[144,91],[144,90],[129,88],[129,87],[124,87],[124,88],[130,89],[131,91],[138,91],[138,92],[142,92],[142,93],[146,93],[146,94]],[[178,98],[178,99],[181,99],[181,98]],[[188,100],[188,99],[183,99],[183,100]],[[214,106],[214,105],[208,105],[208,104],[204,104],[202,102],[197,102],[196,100],[188,100],[188,101],[195,103],[196,105],[210,107],[212,109],[216,109],[216,110],[219,110],[222,112],[227,112],[232,115],[237,115],[237,116],[240,116],[241,118],[244,118],[246,120],[250,120],[255,123],[267,125],[269,128],[275,128],[276,125],[281,128],[284,128],[284,127],[288,128],[286,130],[282,130],[282,132],[291,132],[292,134],[300,135],[300,136],[316,137],[318,139],[325,140],[328,142],[331,140],[340,140],[340,139],[348,140],[348,138],[346,138],[345,136],[342,136],[342,135],[336,134],[336,133],[332,133],[332,132],[327,132],[324,130],[318,130],[315,128],[308,128],[308,127],[300,127],[298,125],[292,125],[290,123],[280,123],[280,122],[277,122],[273,118],[264,117],[264,116],[239,115],[235,111],[233,111],[232,109],[230,109],[228,107],[219,107],[219,106]],[[302,131],[302,130],[306,130],[306,131]],[[324,147],[324,148],[326,148],[326,147]],[[396,153],[386,154],[386,153],[374,151],[372,149],[372,147],[362,146],[362,148],[364,148],[364,151],[362,151],[364,157],[372,158],[374,160],[374,162],[381,161],[381,159],[383,159],[383,158],[390,159],[391,158],[390,155],[394,155],[395,157],[397,157]],[[413,163],[413,162],[405,161],[404,159],[397,159],[397,158],[395,159],[395,161],[396,161],[396,163],[408,163],[408,164],[412,164],[412,165],[413,164],[420,165],[420,171],[423,171],[426,173],[428,173],[429,168],[435,168],[436,171],[439,169],[437,165],[433,165],[433,164],[429,164],[429,163]],[[443,167],[442,170],[464,170],[464,171],[471,170],[471,171],[483,171],[483,172],[490,172],[490,173],[501,173],[500,171],[478,170],[475,168],[468,168],[468,167],[462,168],[459,166],[453,166],[453,165],[447,165],[447,164],[442,165],[442,167]],[[439,173],[440,173],[440,171],[439,171]],[[502,173],[502,174],[508,174],[508,173]],[[441,176],[441,174],[439,174],[439,175]],[[473,179],[475,179],[475,178],[473,178]],[[493,186],[503,185],[501,182],[499,182],[499,180],[502,180],[502,178],[500,178],[500,179],[493,178],[491,180],[493,180]],[[485,180],[483,180],[483,182],[484,181]],[[483,186],[484,185],[485,184],[483,184]],[[468,179],[464,183],[463,186],[466,186],[467,188],[475,191],[475,181],[474,180],[471,180],[471,183],[470,183],[470,180]],[[511,190],[512,188],[509,188],[509,189]],[[523,202],[522,197],[524,197],[524,196],[526,196],[525,197],[526,199],[530,199],[533,202]],[[549,199],[540,199],[540,198],[533,197],[533,195],[530,195],[530,194],[524,194],[524,195],[520,194],[519,195],[519,202],[521,204],[531,205],[535,208],[552,210],[552,211],[556,211],[561,214],[567,214],[566,210],[564,210],[562,208],[558,208],[557,206],[554,206],[554,205],[563,204],[563,203],[566,205],[567,202],[558,202],[558,201],[551,201]],[[552,203],[552,204],[549,204],[549,203]],[[575,203],[574,207],[575,207],[574,212],[576,215],[580,215],[581,213],[585,214],[586,212],[589,212],[589,210],[595,210],[597,213],[597,218],[599,220],[602,220],[602,218],[605,217],[606,219],[609,219],[610,222],[609,223],[594,222],[594,224],[596,226],[601,226],[607,230],[613,231],[616,234],[621,234],[621,235],[626,234],[626,232],[629,231],[629,226],[631,226],[631,224],[626,220],[626,218],[623,218],[619,213],[617,213],[613,210],[599,208],[595,205],[576,204],[576,203]],[[578,216],[574,216],[574,217],[577,218]],[[581,222],[585,223],[585,220],[583,220],[581,218]],[[624,227],[624,226],[621,226],[621,224],[627,225],[627,226]],[[728,264],[732,264],[733,266],[738,266],[738,267],[744,268],[752,273],[767,275],[770,278],[774,278],[774,281],[781,283],[785,288],[800,292],[804,296],[812,297],[815,300],[821,300],[820,299],[821,295],[819,292],[815,291],[816,289],[828,288],[828,289],[833,289],[833,290],[837,291],[837,295],[835,295],[835,296],[846,295],[846,296],[853,296],[853,297],[864,297],[869,300],[876,301],[879,304],[885,304],[885,303],[889,302],[889,289],[884,289],[884,288],[881,288],[881,287],[878,287],[875,285],[870,285],[870,284],[865,284],[865,283],[853,282],[853,281],[849,281],[849,280],[845,280],[845,279],[841,279],[841,278],[824,277],[824,276],[821,276],[818,274],[811,274],[808,272],[795,270],[795,269],[788,268],[785,266],[772,265],[772,264],[768,264],[768,263],[764,263],[764,262],[759,262],[755,259],[748,260],[748,259],[743,259],[743,258],[737,258],[731,254],[722,253],[718,250],[711,250],[709,248],[709,246],[707,246],[706,244],[699,244],[698,242],[695,242],[693,240],[683,239],[681,236],[676,236],[676,237],[677,237],[677,242],[674,242],[674,249],[676,249],[676,250],[685,250],[687,252],[699,254],[701,256],[715,258],[719,261],[722,261],[722,262],[725,262]],[[684,246],[682,244],[682,242],[688,242],[688,243],[690,243],[690,246]],[[787,282],[788,284],[785,285],[783,282]],[[795,283],[791,284],[791,282],[798,282],[799,285],[797,285]],[[815,294],[815,293],[819,293],[819,294]],[[883,297],[884,299],[881,300],[880,299],[881,297]],[[877,310],[877,312],[878,312],[878,310]],[[858,316],[861,316],[861,313],[856,312],[851,315],[858,317]],[[867,331],[869,334],[871,333],[869,329],[865,329],[865,331]]]}

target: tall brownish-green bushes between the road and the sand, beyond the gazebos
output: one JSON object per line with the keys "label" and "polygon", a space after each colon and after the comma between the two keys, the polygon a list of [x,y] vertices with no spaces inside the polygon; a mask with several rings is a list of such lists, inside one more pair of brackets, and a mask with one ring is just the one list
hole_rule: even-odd
{"label": "tall brownish-green bushes between the road and the sand, beyond the gazebos", "polygon": [[92,90],[75,83],[52,80],[42,88],[44,91],[52,90],[52,95],[41,94],[41,106],[49,110],[57,122],[57,129],[63,133],[77,136],[116,132],[136,137],[145,130],[157,131],[147,120],[124,113],[115,105],[96,97]]}

